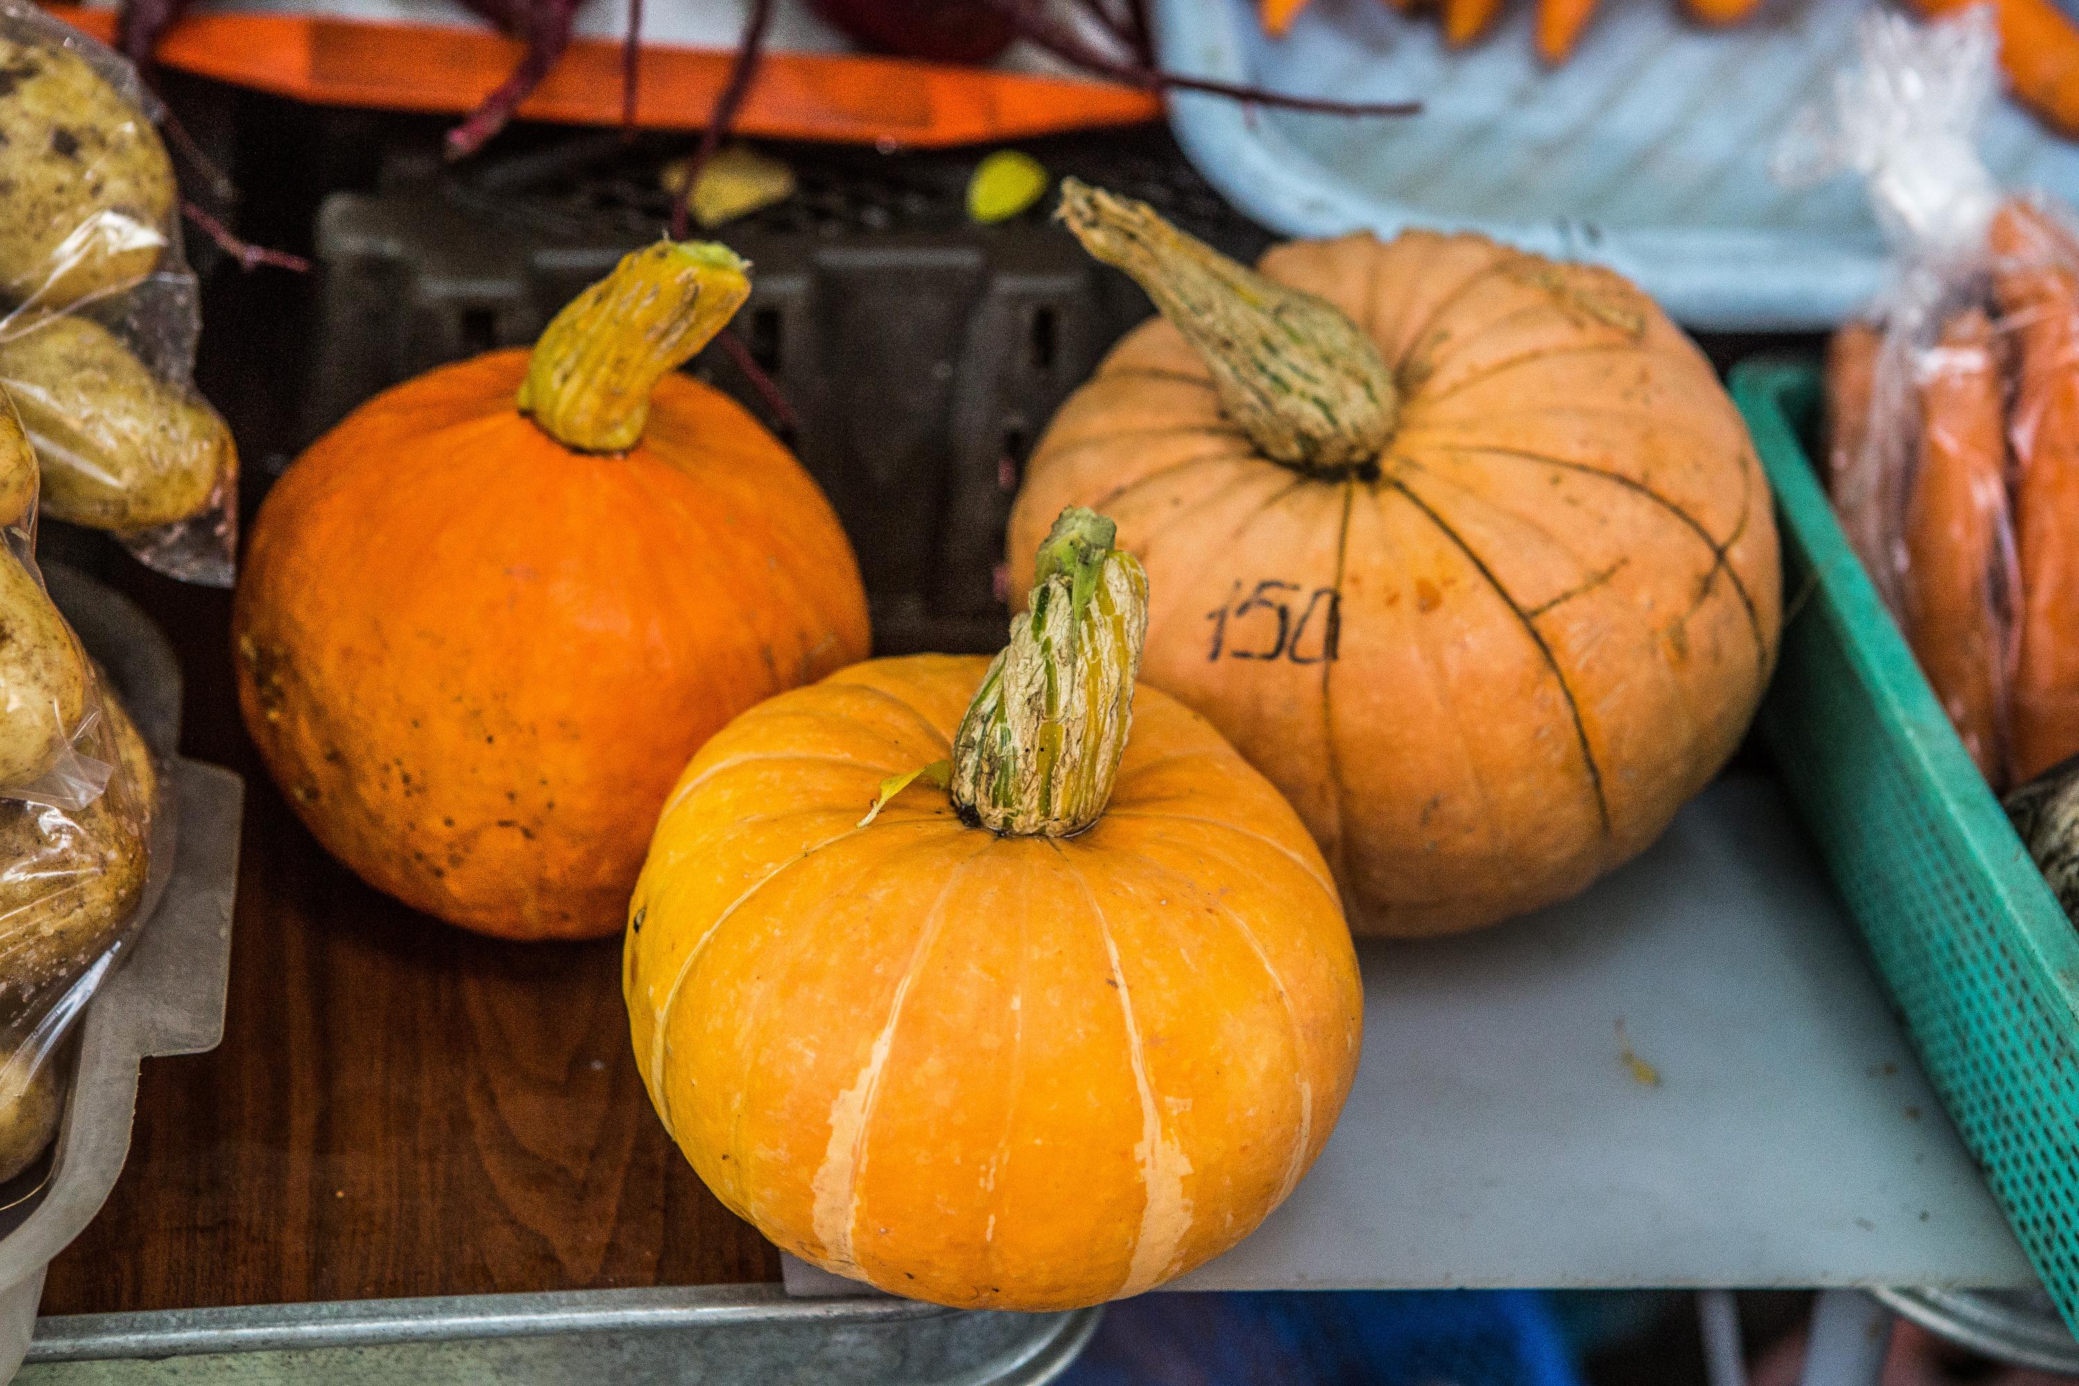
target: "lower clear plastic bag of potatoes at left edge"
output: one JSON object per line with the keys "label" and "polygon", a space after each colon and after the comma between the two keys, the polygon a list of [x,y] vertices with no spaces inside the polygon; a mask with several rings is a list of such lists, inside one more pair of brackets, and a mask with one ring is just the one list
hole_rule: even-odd
{"label": "lower clear plastic bag of potatoes at left edge", "polygon": [[56,1056],[139,916],[158,771],[35,567],[37,459],[0,395],[0,1180],[50,1145]]}

